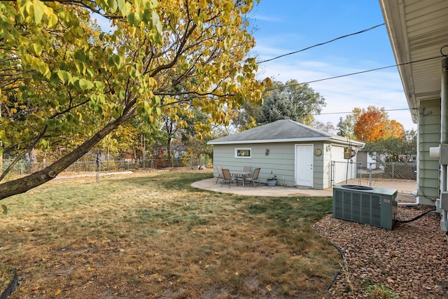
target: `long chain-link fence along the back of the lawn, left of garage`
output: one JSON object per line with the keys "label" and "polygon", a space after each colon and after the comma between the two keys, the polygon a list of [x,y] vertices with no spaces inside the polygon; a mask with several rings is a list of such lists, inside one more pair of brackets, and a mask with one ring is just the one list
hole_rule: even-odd
{"label": "long chain-link fence along the back of the lawn, left of garage", "polygon": [[[19,162],[10,170],[8,176],[27,175],[45,167],[52,163],[25,163]],[[3,173],[10,164],[4,162],[1,165],[1,173]],[[83,173],[83,172],[122,172],[133,169],[163,169],[169,167],[191,167],[192,169],[199,169],[200,167],[211,167],[211,159],[202,160],[186,160],[181,158],[172,159],[149,159],[149,160],[102,160],[98,163],[96,161],[74,162],[61,174],[69,173]]]}

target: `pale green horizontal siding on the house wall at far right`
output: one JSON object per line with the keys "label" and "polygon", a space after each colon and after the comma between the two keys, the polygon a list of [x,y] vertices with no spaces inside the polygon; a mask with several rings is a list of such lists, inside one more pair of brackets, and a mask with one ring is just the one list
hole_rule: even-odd
{"label": "pale green horizontal siding on the house wall at far right", "polygon": [[439,161],[429,157],[429,148],[440,144],[440,99],[422,101],[419,116],[419,199],[421,204],[434,204],[439,195]]}

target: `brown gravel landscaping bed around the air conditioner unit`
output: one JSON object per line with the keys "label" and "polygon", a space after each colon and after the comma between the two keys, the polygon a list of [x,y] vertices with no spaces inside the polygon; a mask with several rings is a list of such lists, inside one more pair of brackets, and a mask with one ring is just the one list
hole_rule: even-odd
{"label": "brown gravel landscaping bed around the air conditioner unit", "polygon": [[[406,221],[430,209],[398,207],[397,218]],[[393,230],[328,215],[314,229],[344,253],[324,298],[448,298],[448,244],[440,214],[396,223]]]}

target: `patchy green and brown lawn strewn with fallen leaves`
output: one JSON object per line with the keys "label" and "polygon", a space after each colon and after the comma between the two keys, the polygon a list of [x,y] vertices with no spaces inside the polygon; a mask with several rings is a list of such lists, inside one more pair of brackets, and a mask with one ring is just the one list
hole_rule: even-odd
{"label": "patchy green and brown lawn strewn with fallen leaves", "polygon": [[190,187],[200,172],[57,179],[1,204],[13,298],[322,298],[339,270],[325,197]]}

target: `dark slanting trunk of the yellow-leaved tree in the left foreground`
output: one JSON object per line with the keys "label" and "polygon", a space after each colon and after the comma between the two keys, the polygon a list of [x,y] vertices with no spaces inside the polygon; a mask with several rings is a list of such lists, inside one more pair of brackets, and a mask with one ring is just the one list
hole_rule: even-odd
{"label": "dark slanting trunk of the yellow-leaved tree in the left foreground", "polygon": [[20,179],[1,183],[0,200],[16,194],[25,193],[32,188],[36,188],[37,186],[40,186],[43,183],[54,179],[57,174],[64,171],[64,169],[72,165],[74,162],[76,162],[76,160],[88,153],[88,151],[90,151],[95,145],[98,144],[99,141],[106,137],[107,134],[109,134],[113,130],[116,130],[120,125],[125,123],[133,116],[134,113],[128,113],[127,115],[121,116],[112,123],[108,123],[105,127],[102,128],[102,130],[97,132],[97,134],[94,134],[92,138],[85,141],[83,144],[78,146],[78,148],[75,148],[71,153],[64,155],[64,157],[52,163],[52,165],[46,167],[45,169],[34,172],[33,174],[29,174],[29,176],[25,176]]}

